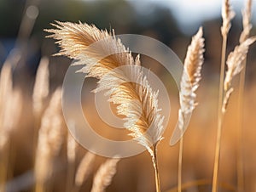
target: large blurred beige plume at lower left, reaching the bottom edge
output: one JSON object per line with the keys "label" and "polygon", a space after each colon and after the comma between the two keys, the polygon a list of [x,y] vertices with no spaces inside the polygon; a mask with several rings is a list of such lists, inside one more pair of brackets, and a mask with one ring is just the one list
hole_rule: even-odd
{"label": "large blurred beige plume at lower left, reaching the bottom edge", "polygon": [[44,184],[50,177],[53,159],[59,153],[62,143],[61,88],[53,93],[49,106],[44,111],[38,133],[38,147],[35,161],[36,191],[44,191]]}

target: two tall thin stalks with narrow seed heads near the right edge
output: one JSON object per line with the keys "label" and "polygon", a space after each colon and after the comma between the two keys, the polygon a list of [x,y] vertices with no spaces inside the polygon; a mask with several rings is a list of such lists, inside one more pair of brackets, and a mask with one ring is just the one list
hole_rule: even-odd
{"label": "two tall thin stalks with narrow seed heads near the right edge", "polygon": [[[251,25],[249,24],[250,18],[250,6],[251,3],[247,3],[246,15],[243,13],[243,27],[244,30],[241,32],[240,44],[236,46],[233,52],[228,56],[228,59],[225,59],[226,54],[226,43],[228,32],[230,31],[230,20],[235,16],[233,11],[230,8],[229,0],[224,1],[223,6],[223,26],[221,27],[221,32],[223,36],[223,48],[222,48],[222,59],[221,59],[221,74],[220,74],[220,84],[219,84],[219,99],[218,99],[218,129],[217,129],[217,142],[215,150],[215,159],[214,159],[214,169],[213,169],[213,178],[212,178],[212,192],[218,190],[218,164],[219,164],[219,154],[220,154],[220,142],[221,142],[221,132],[224,121],[224,114],[226,112],[227,105],[229,103],[230,95],[233,92],[234,88],[230,87],[232,79],[234,76],[239,74],[243,67],[244,61],[247,57],[247,51],[249,46],[255,42],[255,37],[248,38]],[[226,62],[228,69],[226,71],[226,76],[224,77],[224,63]],[[242,78],[242,75],[241,75]],[[243,81],[243,80],[241,80]],[[244,86],[244,85],[243,85]],[[242,178],[240,178],[241,180]],[[240,181],[241,182],[241,181]]]}

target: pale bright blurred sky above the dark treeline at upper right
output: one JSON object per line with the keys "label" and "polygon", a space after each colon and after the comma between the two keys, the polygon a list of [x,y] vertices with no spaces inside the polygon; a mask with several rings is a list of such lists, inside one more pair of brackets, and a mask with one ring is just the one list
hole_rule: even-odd
{"label": "pale bright blurred sky above the dark treeline at upper right", "polygon": [[[128,0],[135,4],[141,11],[147,11],[146,4],[162,4],[170,8],[184,33],[190,33],[201,25],[203,20],[211,20],[221,15],[223,0]],[[236,15],[241,17],[241,8],[247,0],[230,0]],[[150,3],[149,3],[150,2]],[[152,5],[151,5],[152,6]],[[256,11],[256,0],[253,0],[253,9]],[[253,22],[256,21],[256,14],[253,14]],[[194,29],[195,28],[195,29]]]}

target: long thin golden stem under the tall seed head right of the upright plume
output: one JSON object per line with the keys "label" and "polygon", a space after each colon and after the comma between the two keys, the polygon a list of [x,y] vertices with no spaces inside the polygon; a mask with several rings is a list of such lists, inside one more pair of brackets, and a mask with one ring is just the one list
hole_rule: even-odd
{"label": "long thin golden stem under the tall seed head right of the upright plume", "polygon": [[222,112],[223,96],[224,96],[224,70],[226,60],[226,48],[227,48],[227,35],[224,35],[222,42],[222,54],[221,54],[221,69],[219,77],[219,93],[218,93],[218,127],[217,127],[217,140],[215,146],[215,158],[212,177],[212,192],[216,192],[218,189],[218,162],[220,153],[220,140],[222,132],[222,124],[224,114]]}

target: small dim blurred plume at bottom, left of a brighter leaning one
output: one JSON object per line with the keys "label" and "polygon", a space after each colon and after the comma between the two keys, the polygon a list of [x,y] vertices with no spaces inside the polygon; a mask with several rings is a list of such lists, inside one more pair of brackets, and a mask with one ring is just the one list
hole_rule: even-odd
{"label": "small dim blurred plume at bottom, left of a brighter leaning one", "polygon": [[75,175],[75,185],[80,188],[84,181],[89,176],[92,165],[94,163],[96,155],[89,151],[84,155],[83,159],[79,163],[78,171]]}

